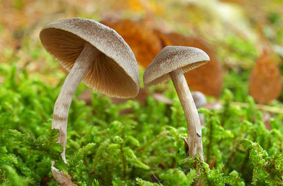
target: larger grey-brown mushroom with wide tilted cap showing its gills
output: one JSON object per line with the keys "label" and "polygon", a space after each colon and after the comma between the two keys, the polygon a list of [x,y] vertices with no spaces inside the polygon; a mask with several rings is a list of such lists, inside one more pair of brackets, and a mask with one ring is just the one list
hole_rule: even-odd
{"label": "larger grey-brown mushroom with wide tilted cap showing its gills", "polygon": [[72,97],[80,81],[109,97],[133,98],[139,88],[136,58],[113,29],[91,19],[63,19],[43,27],[44,48],[68,72],[54,106],[52,128],[58,128],[66,163],[67,123]]}

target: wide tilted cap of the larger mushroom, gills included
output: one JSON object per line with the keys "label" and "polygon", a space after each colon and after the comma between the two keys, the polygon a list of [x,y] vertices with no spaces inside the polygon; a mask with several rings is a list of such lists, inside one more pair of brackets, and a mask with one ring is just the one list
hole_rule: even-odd
{"label": "wide tilted cap of the larger mushroom, gills included", "polygon": [[69,18],[44,26],[40,40],[68,72],[88,42],[101,53],[82,82],[109,97],[126,99],[139,93],[138,63],[129,45],[115,30],[91,19]]}

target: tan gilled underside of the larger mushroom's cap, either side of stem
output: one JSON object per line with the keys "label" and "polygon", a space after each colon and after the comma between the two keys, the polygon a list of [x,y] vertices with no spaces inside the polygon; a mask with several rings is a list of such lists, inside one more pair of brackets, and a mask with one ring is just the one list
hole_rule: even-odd
{"label": "tan gilled underside of the larger mushroom's cap, either side of stem", "polygon": [[[45,49],[70,72],[86,41],[70,32],[55,28],[43,30],[40,36]],[[136,94],[137,85],[132,78],[102,52],[86,71],[82,82],[109,97],[131,98]]]}

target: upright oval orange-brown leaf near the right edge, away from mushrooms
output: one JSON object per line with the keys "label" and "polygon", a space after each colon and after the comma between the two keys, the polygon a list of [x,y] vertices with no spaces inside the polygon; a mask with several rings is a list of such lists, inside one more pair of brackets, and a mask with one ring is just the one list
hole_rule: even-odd
{"label": "upright oval orange-brown leaf near the right edge, away from mushrooms", "polygon": [[278,65],[264,51],[257,60],[249,79],[249,92],[256,102],[264,104],[277,99],[282,90],[282,77]]}

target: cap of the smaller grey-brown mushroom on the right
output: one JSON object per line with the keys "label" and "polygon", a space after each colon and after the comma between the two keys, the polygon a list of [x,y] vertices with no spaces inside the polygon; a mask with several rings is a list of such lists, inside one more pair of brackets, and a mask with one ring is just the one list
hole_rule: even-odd
{"label": "cap of the smaller grey-brown mushroom on the right", "polygon": [[143,74],[143,85],[149,87],[170,80],[169,73],[181,68],[183,73],[210,61],[203,50],[194,47],[164,47]]}

